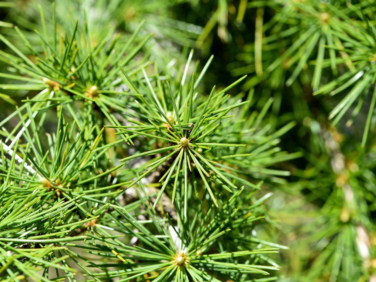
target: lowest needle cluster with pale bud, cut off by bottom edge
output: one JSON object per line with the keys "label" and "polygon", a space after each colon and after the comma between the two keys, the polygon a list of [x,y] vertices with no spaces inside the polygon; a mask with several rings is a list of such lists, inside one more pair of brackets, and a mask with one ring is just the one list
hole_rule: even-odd
{"label": "lowest needle cluster with pale bud, cut off by bottom edge", "polygon": [[[141,188],[142,193],[146,194],[143,185],[141,185]],[[249,248],[250,246],[247,246],[244,249],[237,247],[237,251],[234,252],[213,251],[215,243],[231,230],[224,228],[234,219],[238,209],[242,208],[238,204],[237,208],[234,209],[234,202],[239,194],[239,192],[234,193],[226,203],[223,203],[215,216],[211,216],[212,211],[217,209],[214,205],[205,212],[202,210],[202,205],[197,210],[191,209],[189,211],[192,218],[191,222],[177,208],[176,225],[168,215],[163,220],[159,218],[155,210],[150,209],[151,202],[143,203],[150,216],[150,223],[146,226],[139,224],[137,218],[129,214],[126,209],[115,208],[121,217],[124,218],[124,222],[130,225],[127,227],[121,221],[118,221],[118,224],[123,227],[125,232],[132,234],[133,238],[139,241],[139,244],[138,246],[129,247],[117,238],[107,240],[103,237],[89,235],[105,244],[96,244],[95,247],[92,247],[94,251],[99,251],[99,248],[101,252],[98,254],[103,256],[111,255],[114,258],[118,257],[124,262],[121,264],[121,269],[114,271],[107,271],[106,269],[108,267],[118,268],[119,264],[102,265],[103,272],[94,274],[94,276],[100,277],[100,279],[124,277],[121,280],[128,281],[138,277],[141,278],[144,274],[150,273],[152,275],[147,277],[147,279],[151,281],[188,281],[190,279],[219,281],[212,277],[213,274],[208,273],[220,272],[221,276],[227,276],[228,278],[231,277],[229,273],[232,273],[232,276],[235,275],[244,279],[247,273],[268,274],[265,270],[277,270],[278,268],[274,266],[253,264],[259,260],[263,261],[264,264],[265,257],[263,255],[276,253],[274,248],[252,250]],[[253,211],[254,206],[257,206],[257,204],[250,206],[247,212]],[[238,221],[238,223],[241,222],[242,225],[250,224],[258,219],[250,217],[247,222]],[[237,223],[233,222],[231,226],[236,228]],[[231,241],[229,240],[228,244],[231,244]],[[265,244],[267,245],[268,243]],[[110,254],[111,246],[116,247],[116,253],[112,252]],[[256,244],[253,243],[253,246],[256,247]],[[219,248],[217,250],[222,251],[223,249]],[[243,261],[239,260],[239,258],[244,256],[246,256],[246,260],[241,263]],[[135,264],[134,260],[137,260],[138,263]],[[88,273],[88,275],[92,276],[93,274]],[[218,277],[218,274],[214,275],[214,277]]]}

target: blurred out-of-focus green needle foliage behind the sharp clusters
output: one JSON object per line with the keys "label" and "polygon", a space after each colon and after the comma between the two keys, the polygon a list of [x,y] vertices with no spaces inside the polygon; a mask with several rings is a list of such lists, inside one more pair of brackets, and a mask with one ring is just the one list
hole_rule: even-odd
{"label": "blurred out-of-focus green needle foliage behind the sharp clusters", "polygon": [[[43,25],[42,11],[45,32],[53,32],[51,7],[48,0],[0,2],[0,33],[27,53],[17,26],[43,52],[34,29]],[[71,19],[87,21],[93,45],[103,33],[124,35],[118,43],[126,44],[144,22],[141,34],[153,39],[143,54],[176,85],[191,48],[201,68],[214,55],[203,89],[223,89],[247,74],[228,91],[237,100],[252,96],[239,119],[264,111],[270,132],[293,122],[278,146],[300,156],[271,161],[291,175],[266,180],[256,192],[273,193],[264,207],[272,227],[252,232],[290,248],[277,259],[285,277],[279,280],[374,282],[375,9],[374,0],[57,0],[56,21],[60,31]],[[0,49],[9,52],[3,42]],[[5,68],[0,62],[0,72]],[[25,93],[0,93],[2,120]]]}

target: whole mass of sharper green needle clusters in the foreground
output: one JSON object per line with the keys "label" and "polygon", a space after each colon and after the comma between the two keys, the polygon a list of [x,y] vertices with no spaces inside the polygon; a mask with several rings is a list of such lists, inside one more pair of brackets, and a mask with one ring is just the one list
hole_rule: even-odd
{"label": "whole mass of sharper green needle clusters in the foreground", "polygon": [[150,22],[114,34],[110,18],[62,21],[58,7],[39,6],[34,35],[14,27],[24,46],[0,35],[2,97],[19,105],[0,123],[2,281],[274,277],[283,246],[243,228],[267,224],[253,194],[288,175],[266,167],[298,156],[274,147],[291,125],[261,129],[270,103],[248,117],[252,93],[226,94],[245,77],[206,95],[212,57],[159,68]]}

